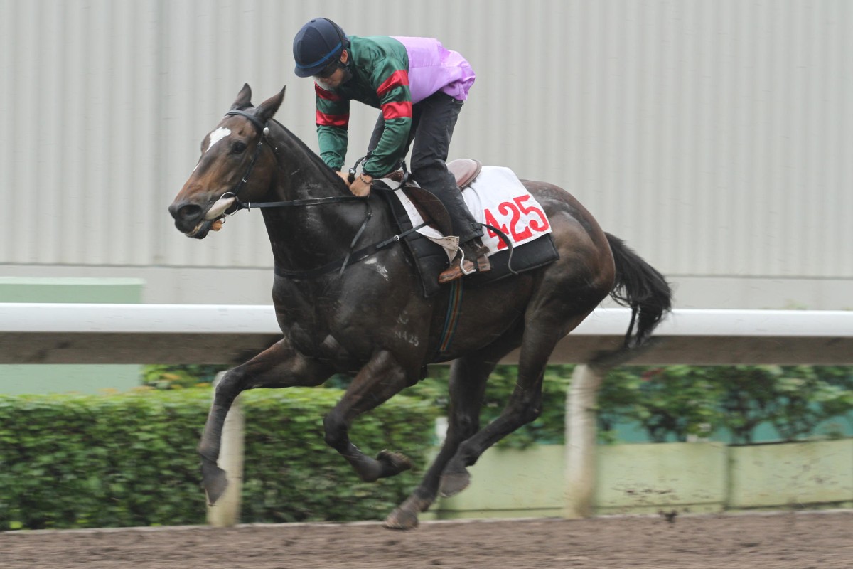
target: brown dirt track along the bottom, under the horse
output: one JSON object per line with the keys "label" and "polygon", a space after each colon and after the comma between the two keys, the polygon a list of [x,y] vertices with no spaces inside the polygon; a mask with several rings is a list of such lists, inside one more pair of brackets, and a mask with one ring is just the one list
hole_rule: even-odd
{"label": "brown dirt track along the bottom, under the horse", "polygon": [[0,533],[0,566],[848,569],[853,511]]}

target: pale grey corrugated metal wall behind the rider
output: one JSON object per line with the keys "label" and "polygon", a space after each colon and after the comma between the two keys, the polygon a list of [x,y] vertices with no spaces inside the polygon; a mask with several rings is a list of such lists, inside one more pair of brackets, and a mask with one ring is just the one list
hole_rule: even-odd
{"label": "pale grey corrugated metal wall behind the rider", "polygon": [[316,147],[315,15],[467,55],[451,154],[569,189],[670,275],[853,277],[846,0],[0,0],[0,264],[268,266],[257,212],[195,241],[165,208],[244,82],[287,84]]}

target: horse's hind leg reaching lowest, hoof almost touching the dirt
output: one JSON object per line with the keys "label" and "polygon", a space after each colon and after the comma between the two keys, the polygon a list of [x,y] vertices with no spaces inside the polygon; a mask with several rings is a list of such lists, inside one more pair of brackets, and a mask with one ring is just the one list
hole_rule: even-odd
{"label": "horse's hind leg reaching lowest, hoof almost touching the dirt", "polygon": [[462,357],[450,366],[450,421],[447,438],[438,456],[421,480],[421,485],[406,498],[385,520],[392,530],[410,530],[418,525],[418,514],[426,512],[438,496],[438,482],[444,466],[456,454],[459,444],[479,431],[479,411],[486,381],[494,362],[481,358]]}

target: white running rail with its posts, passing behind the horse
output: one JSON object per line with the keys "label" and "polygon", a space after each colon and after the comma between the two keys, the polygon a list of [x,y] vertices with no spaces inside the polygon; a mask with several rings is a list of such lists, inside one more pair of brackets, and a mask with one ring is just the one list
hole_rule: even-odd
{"label": "white running rail with its posts, passing behind the horse", "polygon": [[[630,358],[597,360],[602,351],[622,345],[629,321],[627,309],[601,308],[551,358],[584,364],[575,370],[566,398],[570,517],[591,512],[595,400],[612,365],[853,364],[853,311],[675,310],[653,341]],[[280,337],[268,305],[0,304],[0,363],[233,364]],[[517,354],[510,354],[503,363],[515,361]],[[241,437],[239,429],[235,433]],[[223,441],[224,446],[241,449],[241,439]],[[240,479],[241,473],[232,476]],[[217,514],[218,525],[234,523],[237,516],[225,508]]]}

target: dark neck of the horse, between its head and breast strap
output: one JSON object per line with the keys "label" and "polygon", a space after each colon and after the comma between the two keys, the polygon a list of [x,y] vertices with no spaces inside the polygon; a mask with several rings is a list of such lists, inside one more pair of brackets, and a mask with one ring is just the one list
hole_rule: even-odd
{"label": "dark neck of the horse, between its head and breast strap", "polygon": [[[351,196],[337,174],[296,136],[281,127],[276,141],[278,172],[270,200]],[[363,223],[365,206],[355,202],[265,208],[264,223],[276,264],[306,270],[343,257]]]}

